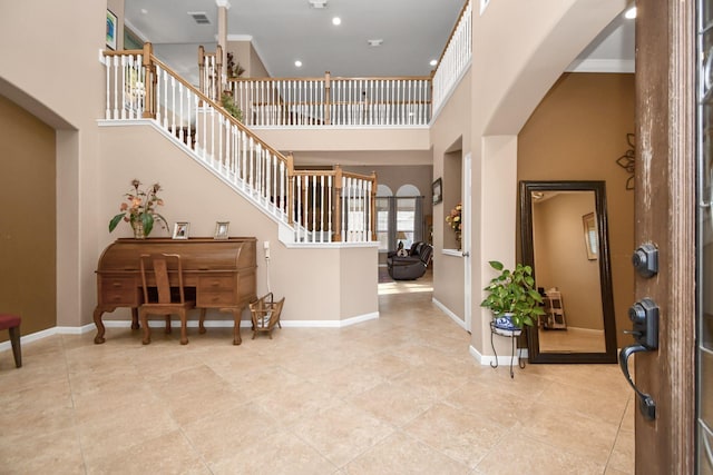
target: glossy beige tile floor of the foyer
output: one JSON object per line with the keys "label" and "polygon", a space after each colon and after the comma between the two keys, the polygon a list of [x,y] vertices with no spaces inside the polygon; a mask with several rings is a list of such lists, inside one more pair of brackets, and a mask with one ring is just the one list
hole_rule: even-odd
{"label": "glossy beige tile floor of the foyer", "polygon": [[[633,474],[616,365],[478,365],[427,286],[381,318],[283,328],[107,329],[0,353],[0,474]],[[402,293],[403,291],[403,293]],[[286,303],[289,306],[289,301]],[[287,307],[285,307],[287,309]],[[285,314],[289,310],[285,311]]]}

